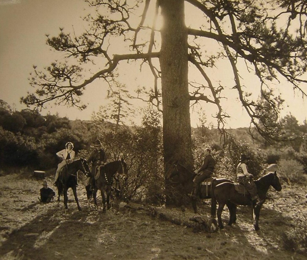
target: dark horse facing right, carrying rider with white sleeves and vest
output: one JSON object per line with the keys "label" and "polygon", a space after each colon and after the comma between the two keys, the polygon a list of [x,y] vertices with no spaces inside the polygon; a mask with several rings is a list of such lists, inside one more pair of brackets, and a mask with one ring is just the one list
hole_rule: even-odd
{"label": "dark horse facing right, carrying rider with white sleeves and vest", "polygon": [[[260,197],[260,204],[254,207],[254,228],[255,230],[259,230],[259,215],[260,215],[260,209],[261,206],[263,205],[265,199],[266,199],[266,194],[268,192],[269,187],[272,185],[272,187],[276,191],[281,191],[282,187],[280,185],[279,178],[277,176],[276,171],[274,173],[268,173],[264,175],[263,177],[260,177],[256,181],[254,181],[257,187],[258,195]],[[228,202],[232,202],[235,207],[231,207],[229,209],[230,217],[229,217],[229,223],[228,225],[231,225],[235,220],[235,215],[236,215],[236,205],[252,205],[252,199],[250,195],[244,195],[244,194],[239,194],[235,190],[235,184],[230,183],[230,182],[224,182],[219,185],[215,186],[212,198],[211,198],[211,216],[212,219],[215,219],[215,213],[216,213],[216,202],[218,202],[219,207],[217,211],[217,216],[218,216],[218,226],[220,229],[223,229],[223,223],[222,223],[222,211]]]}

